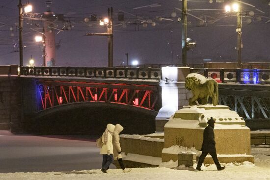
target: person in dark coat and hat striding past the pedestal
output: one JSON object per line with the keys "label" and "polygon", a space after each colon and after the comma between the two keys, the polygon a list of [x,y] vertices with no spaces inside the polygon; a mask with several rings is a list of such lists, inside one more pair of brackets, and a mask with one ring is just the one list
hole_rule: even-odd
{"label": "person in dark coat and hat striding past the pedestal", "polygon": [[208,153],[212,156],[218,171],[225,169],[225,166],[220,166],[216,155],[216,141],[214,133],[215,123],[216,121],[213,119],[213,117],[211,117],[210,120],[207,122],[208,126],[203,131],[203,144],[201,149],[202,154],[199,157],[199,161],[196,167],[196,169],[199,171],[201,171],[202,163]]}

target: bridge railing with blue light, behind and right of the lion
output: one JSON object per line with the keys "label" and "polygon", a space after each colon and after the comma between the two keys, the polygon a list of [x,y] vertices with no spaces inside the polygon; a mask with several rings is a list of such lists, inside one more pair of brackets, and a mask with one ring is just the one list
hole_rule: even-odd
{"label": "bridge railing with blue light, behind and right of the lion", "polygon": [[270,69],[194,69],[190,73],[198,73],[220,83],[239,82],[250,84],[270,84]]}

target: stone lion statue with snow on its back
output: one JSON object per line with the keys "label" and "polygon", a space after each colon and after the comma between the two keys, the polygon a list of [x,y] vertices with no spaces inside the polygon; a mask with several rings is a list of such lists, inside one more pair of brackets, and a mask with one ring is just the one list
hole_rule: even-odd
{"label": "stone lion statue with snow on its back", "polygon": [[212,98],[214,106],[218,104],[218,85],[216,80],[197,74],[191,73],[186,77],[186,89],[193,93],[193,97],[189,98],[189,105],[195,105],[197,100],[201,100],[202,105],[208,103],[209,97]]}

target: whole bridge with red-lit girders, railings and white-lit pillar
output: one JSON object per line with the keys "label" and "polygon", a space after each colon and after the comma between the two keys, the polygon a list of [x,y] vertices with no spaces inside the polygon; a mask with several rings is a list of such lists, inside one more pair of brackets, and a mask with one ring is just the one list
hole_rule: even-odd
{"label": "whole bridge with red-lit girders, railings and white-lit pillar", "polygon": [[[136,119],[143,126],[126,122],[127,127],[130,125],[127,129],[142,129],[141,133],[147,133],[155,130],[155,117],[162,106],[169,104],[179,109],[188,104],[191,94],[184,84],[189,73],[215,79],[219,83],[219,103],[238,112],[246,122],[270,121],[269,69],[21,67],[19,76],[9,72],[8,79],[14,78],[12,83],[17,86],[14,91],[21,101],[17,107],[22,109],[16,111],[16,120],[10,116],[9,120],[2,121],[2,125],[4,128],[13,126],[14,129],[40,131],[41,126],[52,129],[54,126],[49,124],[58,123],[67,127],[69,119],[78,120],[89,114],[100,119],[97,114],[110,113],[106,115],[107,119],[116,123],[119,118],[121,121]],[[174,80],[166,81],[165,77]],[[0,98],[4,101],[4,94]],[[14,105],[10,106],[10,113],[12,107]],[[78,117],[72,117],[72,112],[81,110]],[[48,121],[54,118],[58,121]],[[94,124],[91,127],[94,128]]]}

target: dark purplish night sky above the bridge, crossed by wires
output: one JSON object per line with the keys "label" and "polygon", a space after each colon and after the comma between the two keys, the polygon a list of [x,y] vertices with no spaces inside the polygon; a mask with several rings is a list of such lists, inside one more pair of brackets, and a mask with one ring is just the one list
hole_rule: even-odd
{"label": "dark purplish night sky above the bridge, crossed by wires", "polygon": [[[39,19],[47,10],[45,1],[29,0],[33,5],[34,14],[25,17]],[[237,62],[236,13],[224,12],[225,4],[234,0],[224,0],[225,2],[220,3],[216,1],[218,0],[213,0],[213,3],[209,0],[188,0],[188,12],[206,20],[206,23],[202,23],[188,16],[188,37],[197,44],[188,51],[188,64],[203,63],[203,59],[212,59],[212,62]],[[242,62],[269,62],[270,0],[242,1],[256,6],[240,3],[243,11]],[[22,2],[26,4],[27,0]],[[71,27],[71,30],[59,33],[56,29],[54,31],[58,47],[56,66],[108,66],[107,37],[85,36],[86,33],[107,31],[107,27],[99,25],[99,18],[107,17],[108,7],[113,7],[114,66],[126,65],[125,53],[129,53],[130,62],[136,59],[139,64],[182,63],[181,22],[178,22],[178,18],[182,15],[175,9],[175,7],[182,9],[182,1],[52,0],[52,2],[52,11],[55,14],[63,14],[64,20],[70,22],[65,25]],[[16,26],[18,3],[19,0],[0,0],[0,65],[19,64],[19,49],[13,48],[13,44],[19,44],[19,31]],[[250,11],[254,12],[254,16],[249,15],[252,14]],[[177,16],[172,17],[172,12]],[[119,14],[124,14],[124,21],[118,21]],[[96,15],[98,21],[91,21],[91,15]],[[85,18],[89,18],[89,21],[87,22]],[[154,24],[156,26],[152,26]],[[146,25],[147,27],[144,27]],[[63,26],[63,21],[55,22],[55,28],[61,29]],[[23,42],[26,46],[24,65],[27,65],[31,55],[35,60],[35,66],[41,66],[43,62],[42,45],[34,41],[35,35],[39,34],[36,31],[41,32],[42,27],[41,20],[24,19]]]}

